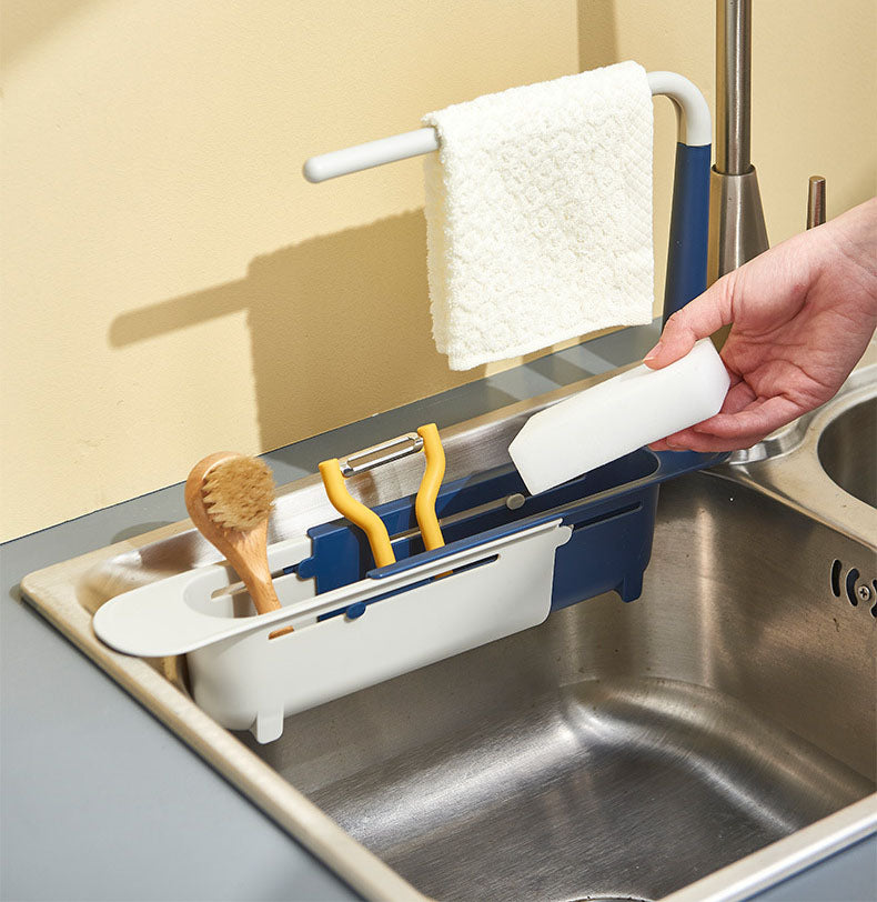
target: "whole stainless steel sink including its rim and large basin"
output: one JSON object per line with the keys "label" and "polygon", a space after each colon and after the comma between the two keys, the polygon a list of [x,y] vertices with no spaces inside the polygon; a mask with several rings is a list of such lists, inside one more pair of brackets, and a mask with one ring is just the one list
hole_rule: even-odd
{"label": "whole stainless steel sink including its rim and large basin", "polygon": [[[877,831],[877,510],[834,467],[875,469],[874,442],[845,443],[867,423],[844,420],[875,395],[870,367],[736,463],[664,485],[639,600],[558,611],[298,714],[269,745],[201,712],[183,661],[91,631],[108,598],[215,559],[188,523],[23,588],[366,898],[743,898]],[[443,432],[448,478],[502,462],[533,410]],[[354,491],[374,504],[417,479],[401,461]],[[276,514],[274,540],[333,517],[312,479]]]}

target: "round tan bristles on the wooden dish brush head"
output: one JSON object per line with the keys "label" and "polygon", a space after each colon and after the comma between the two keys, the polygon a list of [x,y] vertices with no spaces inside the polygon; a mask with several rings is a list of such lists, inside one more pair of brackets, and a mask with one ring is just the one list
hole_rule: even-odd
{"label": "round tan bristles on the wooden dish brush head", "polygon": [[250,530],[274,505],[271,470],[255,458],[229,458],[204,477],[201,491],[210,519],[223,529]]}

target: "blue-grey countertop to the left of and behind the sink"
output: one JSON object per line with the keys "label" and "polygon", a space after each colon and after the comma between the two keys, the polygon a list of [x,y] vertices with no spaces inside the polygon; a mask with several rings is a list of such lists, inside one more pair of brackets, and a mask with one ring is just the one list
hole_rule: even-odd
{"label": "blue-grey countertop to the left of and behind the sink", "polygon": [[[284,484],[639,359],[658,331],[603,335],[264,459]],[[21,600],[26,574],[185,517],[177,484],[0,545],[2,900],[359,898]]]}

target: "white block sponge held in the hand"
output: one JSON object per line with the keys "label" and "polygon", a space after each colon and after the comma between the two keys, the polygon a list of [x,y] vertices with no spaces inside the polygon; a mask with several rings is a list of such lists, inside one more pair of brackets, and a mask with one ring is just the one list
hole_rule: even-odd
{"label": "white block sponge held in the hand", "polygon": [[508,453],[531,494],[718,413],[730,378],[709,339],[663,370],[645,364],[527,420]]}

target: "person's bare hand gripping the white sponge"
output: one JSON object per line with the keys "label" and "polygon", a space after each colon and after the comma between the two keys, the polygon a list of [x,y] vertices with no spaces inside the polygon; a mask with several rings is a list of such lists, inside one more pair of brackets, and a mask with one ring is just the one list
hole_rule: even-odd
{"label": "person's bare hand gripping the white sponge", "polygon": [[667,320],[645,363],[666,367],[729,323],[720,412],[654,450],[749,448],[834,397],[877,327],[877,198],[724,275]]}

